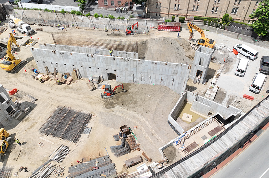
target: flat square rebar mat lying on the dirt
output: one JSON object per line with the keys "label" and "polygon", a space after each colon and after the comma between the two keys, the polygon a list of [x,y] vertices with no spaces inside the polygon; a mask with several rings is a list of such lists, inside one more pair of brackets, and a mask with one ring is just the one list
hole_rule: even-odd
{"label": "flat square rebar mat lying on the dirt", "polygon": [[58,106],[39,132],[75,143],[79,140],[90,118],[90,113]]}

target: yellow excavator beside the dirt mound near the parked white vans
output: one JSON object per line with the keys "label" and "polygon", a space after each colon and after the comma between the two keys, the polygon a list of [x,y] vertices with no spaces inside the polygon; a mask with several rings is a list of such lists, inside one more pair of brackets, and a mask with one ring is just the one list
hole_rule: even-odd
{"label": "yellow excavator beside the dirt mound near the parked white vans", "polygon": [[209,47],[209,48],[213,48],[216,41],[215,40],[211,40],[209,38],[205,37],[205,32],[200,29],[199,27],[197,27],[196,25],[188,22],[188,28],[189,28],[189,32],[190,32],[190,37],[189,37],[189,41],[191,40],[192,36],[193,36],[193,32],[192,32],[192,28],[194,28],[195,30],[197,30],[200,34],[201,34],[201,38],[199,40],[197,40],[198,45],[202,45],[205,47]]}

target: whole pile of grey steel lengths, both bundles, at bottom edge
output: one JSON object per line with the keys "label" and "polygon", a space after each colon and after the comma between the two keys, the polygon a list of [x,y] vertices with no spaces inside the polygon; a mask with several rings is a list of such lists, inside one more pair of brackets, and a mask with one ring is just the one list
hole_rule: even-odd
{"label": "whole pile of grey steel lengths, both bundles, at bottom edge", "polygon": [[94,178],[98,178],[101,177],[101,175],[114,175],[116,174],[116,169],[115,164],[112,163],[111,159],[107,155],[88,162],[79,163],[75,166],[71,166],[69,167],[68,173],[69,178],[86,178],[91,176]]}

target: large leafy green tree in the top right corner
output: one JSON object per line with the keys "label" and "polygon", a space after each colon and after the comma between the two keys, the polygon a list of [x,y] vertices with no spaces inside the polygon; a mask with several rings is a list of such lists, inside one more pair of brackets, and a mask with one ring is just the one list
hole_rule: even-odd
{"label": "large leafy green tree in the top right corner", "polygon": [[251,19],[254,20],[251,27],[254,29],[259,36],[265,36],[267,34],[266,30],[269,30],[269,0],[264,0],[259,3],[258,8],[249,15]]}

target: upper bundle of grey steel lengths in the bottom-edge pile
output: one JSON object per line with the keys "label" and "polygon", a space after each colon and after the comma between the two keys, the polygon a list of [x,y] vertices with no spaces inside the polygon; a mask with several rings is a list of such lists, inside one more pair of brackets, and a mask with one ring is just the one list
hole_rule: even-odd
{"label": "upper bundle of grey steel lengths in the bottom-edge pile", "polygon": [[94,167],[102,167],[102,166],[106,166],[108,164],[110,164],[112,161],[109,158],[109,156],[103,156],[100,158],[96,158],[94,160],[88,161],[88,162],[84,162],[84,163],[79,163],[76,166],[71,166],[69,167],[69,178],[75,177],[75,176],[79,176],[83,173],[89,172],[94,170]]}

